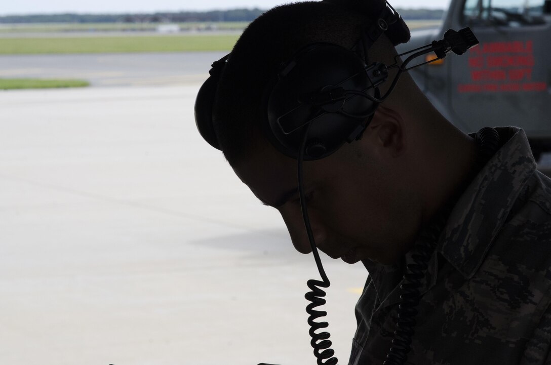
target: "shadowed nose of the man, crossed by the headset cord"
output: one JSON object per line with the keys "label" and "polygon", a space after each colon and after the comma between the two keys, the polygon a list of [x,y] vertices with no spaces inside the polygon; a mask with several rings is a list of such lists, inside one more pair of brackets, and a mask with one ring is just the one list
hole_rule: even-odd
{"label": "shadowed nose of the man, crossed by the headset cord", "polygon": [[[280,213],[283,217],[283,221],[287,226],[289,235],[293,246],[300,253],[310,253],[312,248],[308,235],[306,233],[306,226],[304,225],[304,219],[302,218],[302,211],[299,204],[295,204],[293,207],[285,207],[280,209]],[[315,212],[309,209],[310,225],[312,227],[312,234],[314,235],[314,241],[316,246],[325,239],[325,230],[321,221],[316,216]]]}

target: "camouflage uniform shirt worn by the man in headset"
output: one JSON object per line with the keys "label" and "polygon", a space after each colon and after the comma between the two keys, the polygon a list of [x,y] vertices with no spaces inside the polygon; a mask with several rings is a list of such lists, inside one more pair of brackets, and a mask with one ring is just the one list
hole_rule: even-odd
{"label": "camouflage uniform shirt worn by the man in headset", "polygon": [[[496,129],[503,145],[457,201],[429,261],[407,364],[551,364],[551,179],[523,130]],[[364,265],[350,365],[382,364],[400,302],[404,266]]]}

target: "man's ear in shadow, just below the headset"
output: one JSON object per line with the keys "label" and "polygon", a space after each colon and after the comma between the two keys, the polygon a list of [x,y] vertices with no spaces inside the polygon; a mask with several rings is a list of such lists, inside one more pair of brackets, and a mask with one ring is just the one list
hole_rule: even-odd
{"label": "man's ear in shadow, just below the headset", "polygon": [[402,154],[404,150],[403,119],[397,111],[379,106],[369,128],[376,147],[390,152],[392,157]]}

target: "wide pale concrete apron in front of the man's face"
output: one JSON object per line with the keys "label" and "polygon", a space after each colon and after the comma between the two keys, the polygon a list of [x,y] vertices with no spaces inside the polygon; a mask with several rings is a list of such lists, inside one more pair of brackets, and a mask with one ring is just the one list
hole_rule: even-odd
{"label": "wide pale concrete apron in front of the man's face", "polygon": [[[315,363],[314,259],[201,140],[198,86],[0,92],[0,363]],[[346,363],[366,271],[322,260]]]}

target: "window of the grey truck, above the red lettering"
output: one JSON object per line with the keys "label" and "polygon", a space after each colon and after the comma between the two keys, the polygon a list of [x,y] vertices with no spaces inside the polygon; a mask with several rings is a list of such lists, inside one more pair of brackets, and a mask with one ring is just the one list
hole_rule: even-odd
{"label": "window of the grey truck, above the red lettering", "polygon": [[544,24],[544,0],[466,0],[466,25],[530,26]]}

